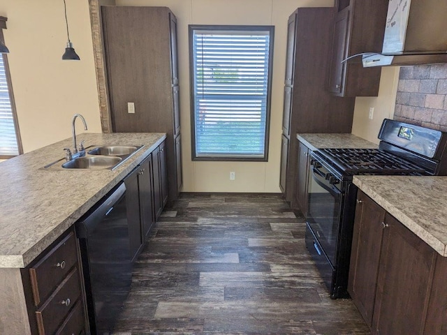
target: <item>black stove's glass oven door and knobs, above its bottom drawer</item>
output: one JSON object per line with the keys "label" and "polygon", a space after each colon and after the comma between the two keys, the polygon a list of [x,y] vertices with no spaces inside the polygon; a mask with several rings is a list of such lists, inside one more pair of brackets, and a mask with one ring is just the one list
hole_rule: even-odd
{"label": "black stove's glass oven door and knobs, above its bottom drawer", "polygon": [[307,223],[326,257],[335,267],[342,208],[342,181],[315,159],[311,160],[309,168]]}

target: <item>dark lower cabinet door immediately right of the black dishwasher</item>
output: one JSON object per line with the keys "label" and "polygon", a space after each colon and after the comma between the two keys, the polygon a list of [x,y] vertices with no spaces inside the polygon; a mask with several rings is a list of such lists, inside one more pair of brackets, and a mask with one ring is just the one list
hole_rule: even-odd
{"label": "dark lower cabinet door immediately right of the black dishwasher", "polygon": [[140,221],[140,196],[138,195],[138,173],[140,169],[133,170],[124,179],[126,185],[127,221],[129,225],[129,242],[131,247],[131,260],[135,260],[142,246]]}

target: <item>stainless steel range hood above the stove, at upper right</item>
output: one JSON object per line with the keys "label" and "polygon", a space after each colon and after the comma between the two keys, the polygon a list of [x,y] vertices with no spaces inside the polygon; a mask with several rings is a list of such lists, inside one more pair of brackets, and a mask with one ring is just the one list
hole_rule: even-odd
{"label": "stainless steel range hood above the stove, at upper right", "polygon": [[382,52],[360,55],[363,67],[447,63],[447,1],[390,0]]}

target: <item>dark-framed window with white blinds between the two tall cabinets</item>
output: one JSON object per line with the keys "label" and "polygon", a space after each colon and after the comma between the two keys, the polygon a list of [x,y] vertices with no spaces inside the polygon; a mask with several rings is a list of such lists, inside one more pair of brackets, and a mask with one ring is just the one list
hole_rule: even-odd
{"label": "dark-framed window with white blinds between the two tall cabinets", "polygon": [[267,161],[273,34],[189,26],[193,160]]}

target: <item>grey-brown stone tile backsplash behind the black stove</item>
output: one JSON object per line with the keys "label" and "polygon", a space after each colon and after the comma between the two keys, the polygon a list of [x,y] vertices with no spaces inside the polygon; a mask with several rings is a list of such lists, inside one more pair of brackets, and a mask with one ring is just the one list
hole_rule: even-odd
{"label": "grey-brown stone tile backsplash behind the black stove", "polygon": [[447,131],[447,64],[402,66],[394,118]]}

